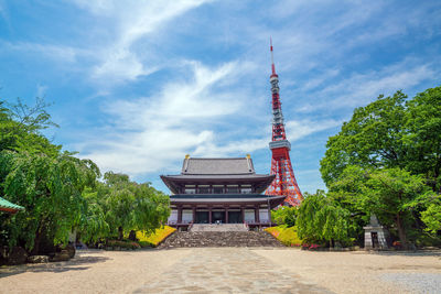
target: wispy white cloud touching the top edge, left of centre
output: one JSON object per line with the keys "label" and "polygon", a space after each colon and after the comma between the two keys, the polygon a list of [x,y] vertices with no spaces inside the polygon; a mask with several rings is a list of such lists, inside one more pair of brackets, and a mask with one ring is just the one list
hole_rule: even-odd
{"label": "wispy white cloud touching the top edge, left of centre", "polygon": [[[152,33],[160,34],[161,29],[174,18],[184,14],[208,0],[168,0],[168,1],[90,1],[75,0],[80,8],[101,17],[115,34],[114,42],[103,46],[97,56],[100,62],[93,68],[92,77],[105,84],[133,80],[149,75],[159,68],[154,63],[151,46],[146,52],[137,52],[133,44]],[[111,19],[115,23],[109,23]],[[151,44],[149,44],[151,45]],[[142,55],[148,55],[142,58]]]}

